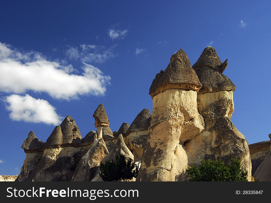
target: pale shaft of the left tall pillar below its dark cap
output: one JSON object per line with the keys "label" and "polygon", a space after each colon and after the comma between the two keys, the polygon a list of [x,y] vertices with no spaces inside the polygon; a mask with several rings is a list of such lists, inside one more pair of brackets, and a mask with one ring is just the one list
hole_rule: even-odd
{"label": "pale shaft of the left tall pillar below its dark cap", "polygon": [[196,91],[178,89],[153,97],[150,132],[138,181],[175,181],[176,175],[187,168],[188,158],[182,144],[204,129],[196,98]]}

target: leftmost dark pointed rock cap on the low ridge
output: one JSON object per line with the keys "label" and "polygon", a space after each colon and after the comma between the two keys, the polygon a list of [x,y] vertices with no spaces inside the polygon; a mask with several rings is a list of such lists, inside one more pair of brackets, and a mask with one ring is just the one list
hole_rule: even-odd
{"label": "leftmost dark pointed rock cap on the low ridge", "polygon": [[44,148],[44,142],[41,140],[38,140],[37,136],[34,134],[33,131],[30,131],[28,133],[28,137],[23,141],[23,144],[21,146],[23,150],[28,152],[40,152],[43,151]]}

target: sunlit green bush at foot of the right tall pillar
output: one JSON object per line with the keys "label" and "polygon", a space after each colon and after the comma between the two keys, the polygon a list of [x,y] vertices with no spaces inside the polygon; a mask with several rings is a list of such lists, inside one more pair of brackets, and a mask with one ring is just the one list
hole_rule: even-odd
{"label": "sunlit green bush at foot of the right tall pillar", "polygon": [[199,165],[186,169],[189,181],[248,181],[248,172],[241,169],[238,158],[231,159],[225,164],[220,158],[202,160]]}

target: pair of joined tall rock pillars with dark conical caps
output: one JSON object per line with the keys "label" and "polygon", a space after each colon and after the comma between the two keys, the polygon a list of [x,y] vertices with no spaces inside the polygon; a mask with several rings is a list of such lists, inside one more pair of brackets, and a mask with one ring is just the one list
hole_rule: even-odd
{"label": "pair of joined tall rock pillars with dark conical caps", "polygon": [[178,180],[188,164],[217,156],[224,161],[237,156],[250,180],[248,143],[230,120],[235,86],[222,75],[227,64],[228,60],[221,63],[213,47],[207,47],[192,69],[179,50],[166,70],[156,75],[149,92],[150,133],[137,181]]}

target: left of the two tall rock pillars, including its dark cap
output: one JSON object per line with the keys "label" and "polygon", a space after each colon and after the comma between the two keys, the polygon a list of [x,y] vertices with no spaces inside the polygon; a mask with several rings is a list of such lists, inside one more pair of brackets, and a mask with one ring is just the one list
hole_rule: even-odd
{"label": "left of the two tall rock pillars, including its dark cap", "polygon": [[149,136],[137,181],[175,181],[187,168],[183,144],[204,129],[197,110],[202,87],[183,50],[172,55],[150,87],[153,109]]}

